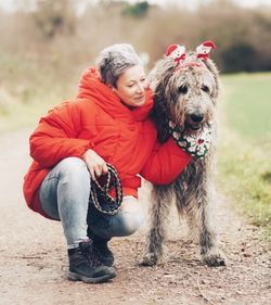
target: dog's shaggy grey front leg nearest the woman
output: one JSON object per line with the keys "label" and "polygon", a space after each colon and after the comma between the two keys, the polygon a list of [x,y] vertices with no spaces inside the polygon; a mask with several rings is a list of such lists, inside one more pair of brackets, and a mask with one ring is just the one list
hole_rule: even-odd
{"label": "dog's shaggy grey front leg nearest the woman", "polygon": [[166,236],[165,223],[169,214],[171,196],[167,187],[154,187],[149,209],[150,228],[139,265],[155,266],[163,258],[163,242]]}

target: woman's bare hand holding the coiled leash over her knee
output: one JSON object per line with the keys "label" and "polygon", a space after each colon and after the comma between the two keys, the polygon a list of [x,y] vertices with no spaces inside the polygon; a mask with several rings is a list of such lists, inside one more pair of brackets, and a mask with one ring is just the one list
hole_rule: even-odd
{"label": "woman's bare hand holding the coiled leash over her knee", "polygon": [[99,178],[101,175],[108,173],[105,161],[93,150],[87,150],[82,155],[82,160],[86,162],[90,176],[93,180],[96,180],[96,178]]}

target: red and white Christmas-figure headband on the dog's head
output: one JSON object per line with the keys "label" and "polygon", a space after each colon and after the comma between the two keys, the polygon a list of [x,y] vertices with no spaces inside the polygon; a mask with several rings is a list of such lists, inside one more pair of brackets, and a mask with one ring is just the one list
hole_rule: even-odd
{"label": "red and white Christmas-figure headband on the dog's head", "polygon": [[[202,45],[199,45],[196,48],[196,58],[201,59],[203,61],[207,61],[209,58],[209,52],[211,49],[216,49],[217,46],[211,41],[207,40],[204,41]],[[185,62],[185,47],[180,45],[170,45],[167,48],[166,56],[171,58],[176,62],[176,68],[185,67],[190,65],[196,65],[201,66],[202,64],[199,62],[196,62],[195,59],[192,59],[192,61]]]}

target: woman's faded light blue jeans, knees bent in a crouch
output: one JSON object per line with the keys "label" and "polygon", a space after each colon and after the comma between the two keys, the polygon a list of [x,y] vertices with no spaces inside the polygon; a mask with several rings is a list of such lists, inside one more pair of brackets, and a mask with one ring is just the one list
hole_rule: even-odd
{"label": "woman's faded light blue jeans, knees bent in a crouch", "polygon": [[132,234],[143,224],[143,212],[131,195],[124,196],[121,208],[114,216],[102,214],[92,205],[89,209],[90,183],[86,163],[67,157],[50,170],[39,189],[41,208],[51,218],[61,220],[68,249],[88,239],[88,225],[94,236],[108,240]]}

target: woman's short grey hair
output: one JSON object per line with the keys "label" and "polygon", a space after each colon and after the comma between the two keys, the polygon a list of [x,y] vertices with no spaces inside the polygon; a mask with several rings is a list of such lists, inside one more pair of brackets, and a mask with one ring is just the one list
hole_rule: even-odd
{"label": "woman's short grey hair", "polygon": [[116,43],[101,51],[95,61],[104,84],[116,87],[119,76],[129,67],[142,65],[143,62],[128,43]]}

